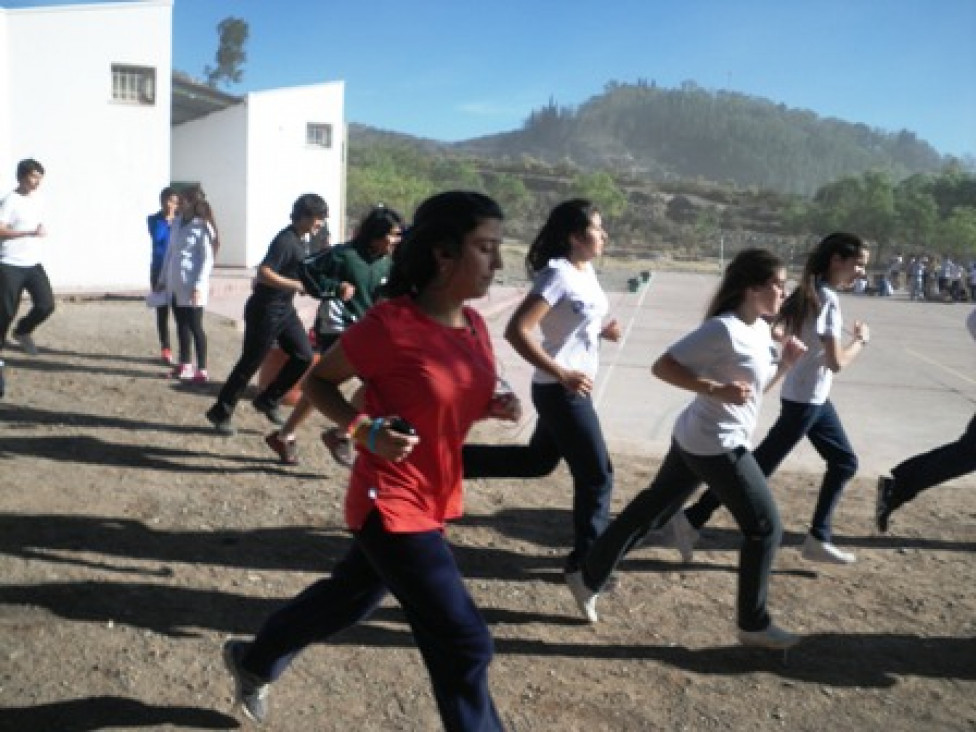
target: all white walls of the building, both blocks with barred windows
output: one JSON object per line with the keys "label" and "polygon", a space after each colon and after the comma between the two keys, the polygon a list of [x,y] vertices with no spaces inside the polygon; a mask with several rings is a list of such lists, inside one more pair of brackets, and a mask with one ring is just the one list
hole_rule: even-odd
{"label": "all white walls of the building, both blocks with barred windows", "polygon": [[[171,181],[203,185],[220,265],[260,262],[302,193],[328,201],[335,239],[345,231],[344,84],[251,93],[171,129],[172,10],[173,0],[0,9],[0,191],[22,158],[47,170],[44,265],[58,292],[145,289],[145,220]],[[154,103],[113,101],[112,64],[154,68]],[[307,143],[310,122],[332,125],[330,148]]]}

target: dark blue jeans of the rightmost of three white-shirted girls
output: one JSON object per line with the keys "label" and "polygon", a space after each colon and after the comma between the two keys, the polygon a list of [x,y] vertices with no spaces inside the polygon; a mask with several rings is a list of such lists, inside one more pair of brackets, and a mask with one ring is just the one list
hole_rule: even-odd
{"label": "dark blue jeans of the rightmost of three white-shirted girls", "polygon": [[[857,473],[857,455],[829,399],[823,404],[803,404],[787,399],[781,399],[780,403],[782,411],[779,418],[759,447],[753,450],[753,455],[763,474],[768,477],[776,472],[800,440],[804,437],[810,440],[827,463],[827,472],[820,484],[820,494],[810,522],[810,533],[821,541],[830,541],[830,519],[844,487]],[[690,506],[685,515],[692,526],[701,528],[720,505],[719,497],[709,491]]]}

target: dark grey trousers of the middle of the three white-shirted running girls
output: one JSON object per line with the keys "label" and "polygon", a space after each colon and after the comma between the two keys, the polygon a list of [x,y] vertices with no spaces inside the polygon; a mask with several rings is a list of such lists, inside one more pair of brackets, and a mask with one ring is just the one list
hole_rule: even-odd
{"label": "dark grey trousers of the middle of the three white-shirted running girls", "polygon": [[746,448],[720,455],[692,455],[677,443],[651,484],[637,494],[596,540],[582,562],[583,581],[599,590],[617,564],[652,529],[660,529],[706,483],[735,518],[744,538],[739,550],[736,616],[742,630],[763,630],[769,574],[783,537],[776,502],[766,478]]}

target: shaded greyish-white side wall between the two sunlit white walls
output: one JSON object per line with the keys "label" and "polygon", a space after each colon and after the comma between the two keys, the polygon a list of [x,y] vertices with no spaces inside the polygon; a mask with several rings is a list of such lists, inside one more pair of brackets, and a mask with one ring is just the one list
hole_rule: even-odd
{"label": "shaded greyish-white side wall between the two sunlit white walls", "polygon": [[172,179],[199,183],[213,206],[220,234],[216,263],[250,266],[244,202],[247,176],[247,105],[214,112],[172,130]]}

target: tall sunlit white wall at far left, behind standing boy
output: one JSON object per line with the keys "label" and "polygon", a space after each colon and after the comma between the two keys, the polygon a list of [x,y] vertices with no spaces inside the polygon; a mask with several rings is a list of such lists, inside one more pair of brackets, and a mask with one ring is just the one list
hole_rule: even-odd
{"label": "tall sunlit white wall at far left, behind standing boy", "polygon": [[[56,292],[144,289],[146,216],[169,180],[172,0],[0,11],[0,190],[36,158]],[[112,64],[156,69],[155,103],[112,100]]]}

